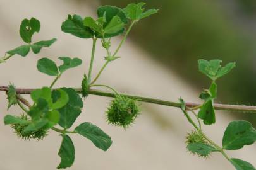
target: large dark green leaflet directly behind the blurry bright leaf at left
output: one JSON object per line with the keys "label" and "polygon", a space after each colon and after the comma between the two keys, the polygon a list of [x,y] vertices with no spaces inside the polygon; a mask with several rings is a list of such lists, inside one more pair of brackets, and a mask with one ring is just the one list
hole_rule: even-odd
{"label": "large dark green leaflet directly behind the blurry bright leaf at left", "polygon": [[[61,114],[59,125],[65,129],[70,128],[75,122],[76,118],[80,115],[83,108],[83,101],[81,97],[76,93],[75,89],[72,88],[61,88],[68,94],[69,101],[62,108],[58,109]],[[54,90],[52,91],[53,101],[58,100],[59,93]]]}

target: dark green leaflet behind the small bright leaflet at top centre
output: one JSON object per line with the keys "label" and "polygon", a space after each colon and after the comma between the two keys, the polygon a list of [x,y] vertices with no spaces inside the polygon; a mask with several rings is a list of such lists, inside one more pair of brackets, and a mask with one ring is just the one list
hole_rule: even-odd
{"label": "dark green leaflet behind the small bright leaflet at top centre", "polygon": [[[103,28],[105,29],[107,25],[111,22],[111,20],[114,18],[114,16],[119,16],[121,21],[126,25],[128,23],[128,18],[126,18],[126,15],[123,11],[123,9],[118,8],[116,6],[100,6],[97,9],[97,14],[99,18],[103,17],[106,18],[106,22],[103,25]],[[117,31],[116,33],[105,33],[104,38],[114,37],[117,35],[121,35],[125,32],[125,28],[121,29],[120,31]],[[97,36],[98,38],[102,38],[101,36]]]}

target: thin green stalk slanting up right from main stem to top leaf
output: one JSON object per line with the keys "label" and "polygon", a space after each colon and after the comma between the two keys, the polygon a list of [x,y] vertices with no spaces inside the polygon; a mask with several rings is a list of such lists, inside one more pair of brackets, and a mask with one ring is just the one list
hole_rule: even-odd
{"label": "thin green stalk slanting up right from main stem to top leaf", "polygon": [[[114,54],[111,57],[116,57],[116,54],[118,54],[118,52],[119,52],[120,48],[122,47],[123,43],[125,43],[125,41],[126,41],[126,39],[128,37],[128,34],[131,31],[131,28],[133,27],[133,25],[135,25],[136,22],[137,21],[132,21],[131,22],[131,25],[129,26],[128,30],[126,31],[125,36],[123,37],[123,40],[121,40],[121,42],[118,45],[118,48],[116,48],[116,51],[114,52]],[[107,49],[107,55],[109,55],[109,54],[110,54],[110,52]],[[107,64],[109,64],[109,62],[110,62],[109,60],[107,60],[105,62],[105,64],[101,67],[101,70],[99,71],[99,73],[95,77],[94,81],[92,81],[92,83],[90,83],[90,84],[94,84],[97,81],[97,79],[99,79],[99,76],[101,76],[102,71],[104,71],[104,69],[106,68]]]}

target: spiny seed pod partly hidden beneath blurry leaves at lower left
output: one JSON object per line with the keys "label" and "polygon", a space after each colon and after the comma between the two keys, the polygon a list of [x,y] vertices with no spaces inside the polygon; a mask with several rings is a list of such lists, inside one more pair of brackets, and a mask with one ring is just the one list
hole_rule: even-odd
{"label": "spiny seed pod partly hidden beneath blurry leaves at lower left", "polygon": [[[20,117],[23,120],[29,120],[27,115],[21,115]],[[47,130],[44,129],[39,129],[37,131],[32,131],[32,132],[23,132],[23,130],[28,126],[27,125],[20,125],[20,124],[14,124],[11,125],[11,127],[15,130],[16,135],[20,139],[25,139],[25,140],[30,140],[30,139],[37,139],[37,140],[42,140],[44,137],[47,135]]]}

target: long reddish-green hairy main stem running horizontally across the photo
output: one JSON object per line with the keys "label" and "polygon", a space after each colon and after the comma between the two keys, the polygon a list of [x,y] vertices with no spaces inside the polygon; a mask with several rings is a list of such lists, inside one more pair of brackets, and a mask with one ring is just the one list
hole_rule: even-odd
{"label": "long reddish-green hairy main stem running horizontally across the photo", "polygon": [[[77,93],[82,93],[81,88],[74,88]],[[16,89],[17,94],[30,94],[34,89]],[[0,86],[0,91],[8,91],[8,86]],[[96,95],[96,96],[106,96],[114,98],[116,96],[115,93],[110,93],[106,91],[99,91],[95,89],[90,89],[89,94]],[[121,93],[120,93],[121,94]],[[138,99],[139,101],[143,101],[146,103],[154,103],[157,105],[164,105],[164,106],[172,106],[176,108],[181,108],[181,103],[175,101],[166,101],[162,99],[155,99],[155,98],[147,98],[143,96],[134,96],[130,94],[121,94],[128,96],[129,98]],[[196,106],[201,105],[201,103],[186,103],[186,106],[189,108],[193,108]],[[236,111],[236,112],[247,112],[247,113],[256,113],[256,106],[245,106],[245,105],[225,105],[225,104],[214,104],[214,108],[216,110],[226,110],[226,111]]]}

